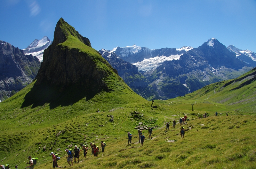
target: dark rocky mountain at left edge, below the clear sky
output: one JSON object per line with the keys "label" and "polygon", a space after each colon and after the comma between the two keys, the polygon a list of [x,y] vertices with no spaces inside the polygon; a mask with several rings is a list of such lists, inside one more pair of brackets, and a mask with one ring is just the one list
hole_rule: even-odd
{"label": "dark rocky mountain at left edge, below the clear sky", "polygon": [[0,40],[0,100],[23,89],[36,77],[40,62],[36,56]]}

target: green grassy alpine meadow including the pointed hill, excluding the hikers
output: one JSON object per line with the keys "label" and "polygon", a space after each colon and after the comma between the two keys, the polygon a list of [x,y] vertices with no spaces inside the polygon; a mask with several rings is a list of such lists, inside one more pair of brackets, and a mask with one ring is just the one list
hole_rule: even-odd
{"label": "green grassy alpine meadow including the pointed hill, excluding the hikers", "polygon": [[[0,103],[1,164],[25,168],[31,156],[38,158],[35,169],[51,169],[54,152],[58,165],[70,169],[255,169],[255,80],[256,68],[184,96],[148,101],[60,18],[35,79]],[[209,117],[198,118],[205,113]],[[180,125],[184,115],[187,124]],[[143,146],[138,128],[146,137]],[[107,143],[104,153],[94,157],[89,149],[84,158],[81,151],[79,163],[68,165],[66,148],[90,142],[100,147],[101,141]]]}

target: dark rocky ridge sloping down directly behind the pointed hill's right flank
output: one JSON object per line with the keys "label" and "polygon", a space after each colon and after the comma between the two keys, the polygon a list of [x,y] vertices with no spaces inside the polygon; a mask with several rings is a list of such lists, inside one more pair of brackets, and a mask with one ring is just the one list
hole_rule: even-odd
{"label": "dark rocky ridge sloping down directly behind the pointed hill's right flank", "polygon": [[138,67],[129,62],[124,61],[115,53],[111,53],[105,49],[99,50],[99,53],[108,63],[117,70],[118,75],[122,77],[124,82],[137,94],[145,99],[158,99],[158,94],[149,85],[148,79],[139,71]]}

